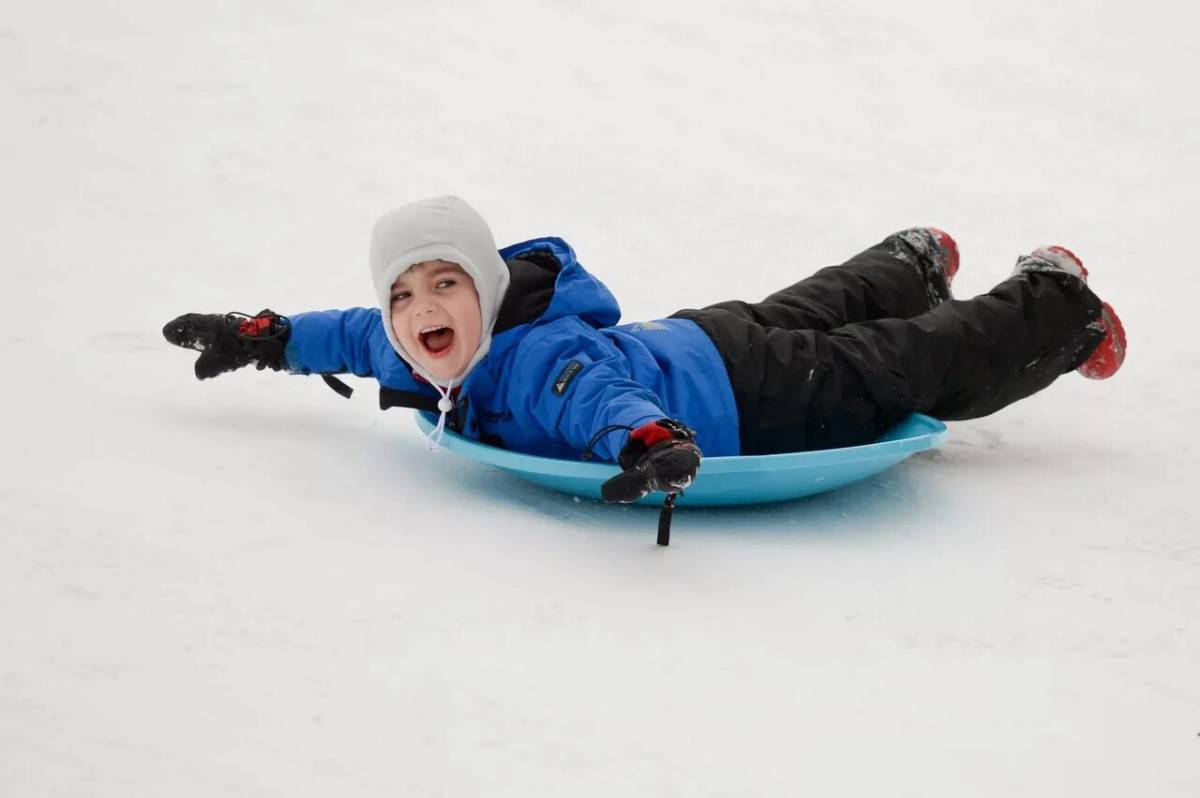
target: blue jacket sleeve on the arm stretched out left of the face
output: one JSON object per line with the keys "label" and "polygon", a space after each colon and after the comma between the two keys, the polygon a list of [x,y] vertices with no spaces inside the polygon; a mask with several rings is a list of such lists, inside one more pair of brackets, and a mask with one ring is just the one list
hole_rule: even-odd
{"label": "blue jacket sleeve on the arm stretched out left of the face", "polygon": [[[376,338],[386,335],[379,308],[313,311],[289,316],[292,335],[284,350],[288,371],[298,374],[378,374],[373,352]],[[390,349],[390,346],[389,346]]]}

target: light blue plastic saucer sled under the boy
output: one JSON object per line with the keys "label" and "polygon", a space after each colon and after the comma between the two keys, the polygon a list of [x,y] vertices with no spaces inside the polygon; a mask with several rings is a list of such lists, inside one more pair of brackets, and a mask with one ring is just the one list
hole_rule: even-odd
{"label": "light blue plastic saucer sled under the boy", "polygon": [[[418,426],[428,434],[433,430],[433,422],[422,413],[415,415]],[[786,455],[704,457],[696,481],[679,496],[678,504],[763,504],[832,491],[875,476],[910,455],[932,449],[944,437],[944,424],[914,413],[888,430],[877,442],[863,446]],[[592,499],[600,498],[600,485],[618,472],[612,463],[522,455],[469,440],[449,430],[442,445],[457,455],[496,466],[530,482]],[[661,493],[652,493],[638,502],[650,505],[661,503]]]}

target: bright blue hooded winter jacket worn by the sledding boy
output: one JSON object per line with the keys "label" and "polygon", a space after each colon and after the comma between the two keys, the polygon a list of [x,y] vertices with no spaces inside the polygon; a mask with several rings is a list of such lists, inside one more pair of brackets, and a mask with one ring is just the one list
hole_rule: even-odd
{"label": "bright blue hooded winter jacket worn by the sledding boy", "polygon": [[[712,340],[686,319],[617,325],[617,300],[562,239],[534,239],[499,254],[511,262],[536,250],[562,266],[552,278],[553,294],[535,317],[493,332],[491,350],[456,395],[461,434],[515,451],[578,458],[610,425],[672,418],[696,431],[704,455],[738,454],[733,390]],[[394,391],[438,397],[396,354],[378,308],[290,319],[290,371],[349,372]],[[592,452],[616,462],[626,436],[624,428],[602,433]]]}

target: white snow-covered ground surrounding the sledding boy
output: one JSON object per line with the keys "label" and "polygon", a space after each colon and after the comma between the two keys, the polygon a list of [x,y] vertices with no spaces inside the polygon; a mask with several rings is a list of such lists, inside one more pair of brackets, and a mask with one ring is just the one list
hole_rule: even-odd
{"label": "white snow-covered ground surrounding the sledding boy", "polygon": [[[5,4],[0,794],[1200,794],[1198,20]],[[1130,355],[662,550],[162,341],[370,305],[372,222],[442,192],[631,320],[913,224],[960,296],[1060,242]]]}

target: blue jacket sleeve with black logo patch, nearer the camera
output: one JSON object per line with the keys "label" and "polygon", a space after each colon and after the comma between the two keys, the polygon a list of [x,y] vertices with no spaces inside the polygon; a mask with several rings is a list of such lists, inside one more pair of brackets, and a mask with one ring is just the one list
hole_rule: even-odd
{"label": "blue jacket sleeve with black logo patch, nearer the camera", "polygon": [[[556,319],[532,331],[520,349],[527,376],[514,380],[518,395],[510,397],[510,406],[572,449],[582,452],[608,425],[636,428],[666,416],[662,400],[634,382],[620,350],[578,318]],[[610,431],[592,451],[616,462],[628,437],[628,430]]]}

